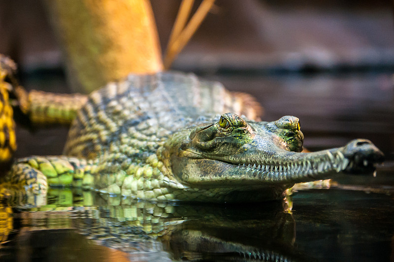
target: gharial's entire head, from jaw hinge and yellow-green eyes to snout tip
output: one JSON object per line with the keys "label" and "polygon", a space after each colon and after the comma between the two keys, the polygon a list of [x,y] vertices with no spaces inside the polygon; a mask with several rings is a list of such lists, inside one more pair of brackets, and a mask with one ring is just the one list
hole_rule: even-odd
{"label": "gharial's entire head, from jaw hinge and yellow-green eyes to snout tip", "polygon": [[227,113],[216,123],[177,137],[170,153],[173,175],[194,187],[292,186],[341,171],[370,171],[383,161],[383,153],[364,139],[340,148],[301,152],[303,134],[293,116],[254,122]]}

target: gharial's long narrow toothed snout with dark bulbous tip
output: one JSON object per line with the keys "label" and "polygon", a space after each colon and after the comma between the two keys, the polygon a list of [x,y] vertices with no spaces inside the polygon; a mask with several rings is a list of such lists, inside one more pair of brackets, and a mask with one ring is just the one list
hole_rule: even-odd
{"label": "gharial's long narrow toothed snout with dark bulbous tip", "polygon": [[233,158],[243,173],[271,183],[309,182],[331,178],[342,171],[371,172],[384,160],[383,153],[370,141],[356,139],[344,147],[312,153],[289,152],[280,148],[257,145]]}

